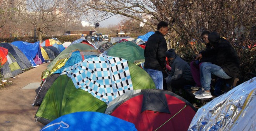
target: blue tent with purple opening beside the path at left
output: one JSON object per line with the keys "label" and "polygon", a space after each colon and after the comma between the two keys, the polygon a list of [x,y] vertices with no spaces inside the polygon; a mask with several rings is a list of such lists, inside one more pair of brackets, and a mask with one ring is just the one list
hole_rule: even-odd
{"label": "blue tent with purple opening beside the path at left", "polygon": [[[31,65],[33,67],[36,67],[36,65],[42,64],[42,62],[45,61],[41,54],[39,41],[35,42],[35,43],[14,41],[11,44],[15,45],[16,47],[18,47],[19,50],[21,50],[23,52],[23,54],[28,58],[29,62],[31,62]],[[40,55],[41,58],[38,57],[37,54]],[[35,63],[34,58],[36,59],[37,63]]]}

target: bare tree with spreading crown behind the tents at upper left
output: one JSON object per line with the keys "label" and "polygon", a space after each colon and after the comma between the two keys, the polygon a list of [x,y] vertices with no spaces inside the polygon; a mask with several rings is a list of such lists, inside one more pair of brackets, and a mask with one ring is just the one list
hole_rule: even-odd
{"label": "bare tree with spreading crown behind the tents at upper left", "polygon": [[73,2],[70,0],[19,0],[17,9],[21,20],[32,24],[38,32],[38,40],[42,42],[45,30],[55,31],[57,27],[65,27],[66,21],[76,21]]}

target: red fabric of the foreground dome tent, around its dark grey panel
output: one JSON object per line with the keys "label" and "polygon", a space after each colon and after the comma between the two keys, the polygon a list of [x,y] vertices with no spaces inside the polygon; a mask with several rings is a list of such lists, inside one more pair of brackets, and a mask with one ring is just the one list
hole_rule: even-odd
{"label": "red fabric of the foreground dome tent, around its dark grey panel", "polygon": [[[138,131],[153,131],[168,121],[168,119],[173,117],[185,106],[185,102],[174,96],[166,94],[166,99],[168,101],[168,108],[171,114],[149,110],[141,113],[143,95],[139,95],[121,104],[114,110],[111,116],[115,116],[135,124]],[[190,106],[187,106],[158,130],[187,131],[194,115],[195,111]]]}

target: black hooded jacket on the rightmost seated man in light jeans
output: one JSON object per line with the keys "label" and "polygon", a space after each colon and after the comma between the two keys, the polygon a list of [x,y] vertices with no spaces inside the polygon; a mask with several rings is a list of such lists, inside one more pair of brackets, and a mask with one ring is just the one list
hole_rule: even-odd
{"label": "black hooded jacket on the rightmost seated man in light jeans", "polygon": [[209,34],[208,40],[214,48],[202,51],[202,57],[215,55],[212,63],[220,66],[228,76],[238,78],[240,73],[239,59],[232,45],[216,32]]}

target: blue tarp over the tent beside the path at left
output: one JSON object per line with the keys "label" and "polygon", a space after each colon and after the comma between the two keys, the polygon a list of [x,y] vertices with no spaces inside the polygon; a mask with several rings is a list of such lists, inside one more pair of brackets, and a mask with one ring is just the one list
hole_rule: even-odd
{"label": "blue tarp over the tent beside the path at left", "polygon": [[39,48],[39,42],[36,43],[28,43],[23,41],[15,41],[11,43],[12,45],[15,45],[23,54],[28,58],[29,62],[33,67],[36,66],[36,63],[34,61],[34,58],[36,57],[36,54],[38,52]]}

